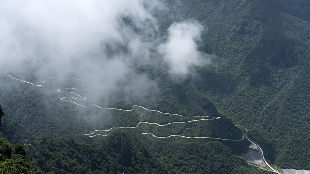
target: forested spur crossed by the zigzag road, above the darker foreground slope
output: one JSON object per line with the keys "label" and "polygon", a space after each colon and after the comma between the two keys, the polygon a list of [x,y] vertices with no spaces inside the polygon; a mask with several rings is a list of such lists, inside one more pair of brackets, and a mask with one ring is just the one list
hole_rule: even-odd
{"label": "forested spur crossed by the zigzag road, above the darker foreground slope", "polygon": [[[240,139],[242,137],[240,129],[235,127],[226,117],[219,115],[214,105],[198,93],[193,83],[186,81],[183,84],[178,84],[171,82],[167,74],[162,76],[163,78],[160,78],[162,92],[161,97],[158,98],[159,104],[157,106],[161,111],[194,116],[220,116],[221,119],[171,124],[165,127],[142,123],[135,129],[123,128],[122,131],[139,134],[153,133],[156,136],[184,135],[226,139]],[[6,124],[3,127],[3,136],[12,143],[28,143],[36,136],[35,134],[40,133],[55,137],[76,133],[90,133],[96,129],[134,127],[140,121],[164,125],[175,121],[203,118],[161,114],[139,107],[132,108],[132,105],[126,107],[128,104],[133,104],[130,102],[122,106],[116,103],[115,106],[108,105],[108,107],[132,108],[132,111],[99,109],[94,106],[85,108],[71,102],[60,101],[59,99],[62,96],[56,92],[58,87],[50,89],[51,86],[53,87],[52,82],[45,84],[43,87],[35,87],[30,84],[11,81],[10,78],[3,79],[7,83],[12,82],[12,87],[1,88],[3,91],[2,98],[7,101],[4,105],[7,117],[22,125],[19,127],[14,121],[4,120]],[[47,94],[48,92],[49,94]],[[79,103],[79,101],[76,102]],[[81,104],[87,105],[90,103]],[[109,131],[100,131],[99,133],[109,135]]]}

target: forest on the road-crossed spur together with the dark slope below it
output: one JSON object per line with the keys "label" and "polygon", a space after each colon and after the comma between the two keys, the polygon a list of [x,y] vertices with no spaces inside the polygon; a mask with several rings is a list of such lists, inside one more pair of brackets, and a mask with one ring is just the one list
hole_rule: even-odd
{"label": "forest on the road-crossed spur together with the dark slope below it", "polygon": [[[18,84],[18,82],[17,82]],[[184,140],[183,138],[173,137],[167,140],[156,139],[149,135],[140,135],[140,133],[146,131],[151,132],[159,136],[167,136],[171,134],[180,134],[186,136],[211,136],[220,138],[241,138],[241,131],[233,125],[233,123],[226,117],[221,116],[221,119],[206,120],[199,124],[188,123],[176,126],[171,126],[162,129],[154,125],[144,125],[140,129],[132,131],[131,129],[122,131],[129,131],[134,134],[128,134],[120,131],[109,132],[109,137],[94,137],[89,138],[85,135],[75,135],[75,131],[65,129],[65,136],[62,132],[64,130],[57,130],[54,127],[44,127],[44,123],[53,122],[55,119],[61,119],[59,116],[63,116],[63,113],[87,113],[93,115],[107,114],[113,117],[109,118],[109,123],[100,125],[99,128],[110,128],[112,126],[135,126],[139,121],[158,122],[160,124],[166,124],[173,121],[188,121],[193,118],[171,116],[167,114],[160,114],[155,111],[147,111],[139,107],[134,107],[132,111],[119,111],[119,110],[104,110],[97,109],[95,107],[89,108],[75,108],[74,104],[70,102],[60,101],[51,102],[44,100],[44,88],[33,87],[31,85],[25,86],[20,84],[22,89],[17,87],[10,87],[2,93],[2,96],[6,97],[11,95],[12,97],[6,97],[8,101],[19,101],[19,108],[29,111],[28,119],[16,120],[16,123],[8,118],[3,123],[3,136],[12,139],[15,143],[27,143],[25,149],[27,151],[27,159],[31,161],[31,166],[38,166],[39,173],[51,172],[51,173],[262,173],[261,170],[249,166],[244,160],[237,158],[233,153],[243,152],[248,147],[248,141],[243,140],[240,142],[227,142],[221,141],[221,143],[227,145],[233,150],[223,146],[219,142],[209,142],[209,140]],[[189,87],[193,87],[193,84],[175,85],[180,87],[180,90],[189,90]],[[168,86],[167,86],[168,87]],[[184,88],[184,89],[182,89]],[[18,89],[22,92],[23,99],[18,100]],[[11,91],[12,90],[12,91]],[[214,113],[215,116],[220,116],[215,107],[210,104],[207,99],[199,96],[197,91],[190,94],[191,90],[186,92],[185,97],[174,97],[171,95],[169,98],[174,98],[174,102],[180,103],[179,106],[184,110],[179,111],[180,114],[205,114],[212,116],[209,113]],[[3,95],[6,94],[6,95]],[[164,93],[166,96],[169,92]],[[178,93],[172,93],[178,94]],[[15,96],[15,97],[14,97]],[[186,98],[197,98],[200,105],[205,105],[205,109],[199,109],[194,107],[195,110],[186,111]],[[23,102],[24,99],[27,100]],[[48,99],[52,99],[50,97]],[[182,100],[181,100],[182,99]],[[45,105],[36,103],[35,101],[44,101]],[[194,102],[193,99],[189,99]],[[10,102],[9,102],[10,103]],[[27,103],[26,105],[24,105]],[[53,105],[55,104],[55,105]],[[40,119],[31,118],[31,112],[34,108],[28,108],[27,106],[34,105],[37,108],[42,108],[39,113],[42,116]],[[47,107],[49,106],[49,107]],[[22,115],[23,110],[16,111],[12,108],[8,108],[10,116]],[[58,107],[58,108],[57,108]],[[170,108],[172,108],[170,106]],[[208,108],[211,108],[208,112]],[[61,109],[63,112],[61,113]],[[167,108],[168,110],[169,108]],[[45,113],[45,112],[46,113]],[[53,112],[54,119],[46,119],[49,112]],[[187,112],[187,113],[186,113]],[[38,112],[36,112],[38,113]],[[70,116],[70,115],[69,115]],[[78,115],[79,116],[79,115]],[[14,118],[12,118],[14,119]],[[198,118],[199,119],[199,118]],[[71,122],[70,126],[78,127],[84,130],[94,130],[94,127],[89,126],[90,123],[84,124],[85,120],[77,119],[77,117],[63,117],[63,122]],[[42,123],[41,123],[42,122]],[[20,126],[25,125],[25,127]],[[28,126],[31,124],[34,128]],[[41,125],[40,125],[41,124]],[[75,125],[74,125],[75,124]],[[93,124],[95,125],[95,124]],[[31,129],[32,131],[27,131]],[[39,130],[35,134],[31,133],[33,130]],[[204,131],[201,131],[204,130]],[[49,132],[55,132],[49,134]],[[29,133],[29,134],[28,134]],[[46,136],[39,136],[38,134],[45,134]],[[138,133],[138,134],[137,134]],[[61,137],[59,137],[61,136]],[[55,138],[54,138],[55,137]],[[27,141],[25,141],[27,139]],[[209,143],[208,143],[209,142]],[[179,147],[179,148],[176,148]],[[192,150],[191,150],[192,148]],[[203,152],[201,152],[203,150]],[[202,154],[203,153],[203,154]],[[184,154],[188,158],[183,159]],[[201,155],[198,155],[201,154]],[[182,158],[181,158],[182,157]],[[196,158],[197,157],[197,158]],[[198,161],[201,163],[198,164]],[[198,166],[199,165],[199,166]],[[198,166],[198,167],[197,167]]]}

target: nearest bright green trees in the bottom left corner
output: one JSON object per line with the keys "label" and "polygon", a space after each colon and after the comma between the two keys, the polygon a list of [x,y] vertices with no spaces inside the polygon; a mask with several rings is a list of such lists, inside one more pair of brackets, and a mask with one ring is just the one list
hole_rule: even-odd
{"label": "nearest bright green trees in the bottom left corner", "polygon": [[36,174],[38,169],[30,168],[26,161],[26,151],[21,144],[14,148],[4,138],[0,138],[0,174]]}

